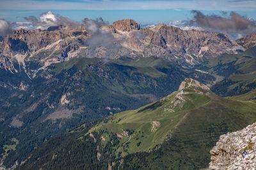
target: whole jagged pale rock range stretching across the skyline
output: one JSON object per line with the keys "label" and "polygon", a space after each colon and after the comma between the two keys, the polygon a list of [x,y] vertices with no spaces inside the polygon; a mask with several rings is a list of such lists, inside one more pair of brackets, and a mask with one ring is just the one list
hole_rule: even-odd
{"label": "whole jagged pale rock range stretching across the skyline", "polygon": [[25,61],[34,60],[45,67],[72,57],[117,59],[121,56],[155,56],[193,65],[199,64],[203,57],[244,50],[225,34],[184,31],[164,24],[141,29],[140,24],[131,19],[95,29],[99,35],[84,25],[14,31],[0,41],[0,67],[10,69],[15,60],[22,66]]}

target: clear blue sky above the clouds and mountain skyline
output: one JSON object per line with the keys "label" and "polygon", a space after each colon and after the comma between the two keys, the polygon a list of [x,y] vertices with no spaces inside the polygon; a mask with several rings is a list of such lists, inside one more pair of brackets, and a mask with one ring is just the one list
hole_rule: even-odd
{"label": "clear blue sky above the clouds and mountain skyline", "polygon": [[51,10],[71,20],[102,17],[109,23],[132,18],[141,24],[166,22],[169,20],[191,20],[191,10],[204,14],[220,15],[221,11],[236,11],[240,15],[256,20],[256,1],[248,0],[1,0],[0,18],[15,22],[24,17]]}

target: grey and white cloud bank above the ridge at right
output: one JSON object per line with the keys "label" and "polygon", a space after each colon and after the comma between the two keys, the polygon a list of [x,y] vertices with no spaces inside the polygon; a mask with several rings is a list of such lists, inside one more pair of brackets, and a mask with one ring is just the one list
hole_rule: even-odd
{"label": "grey and white cloud bank above the ridge at right", "polygon": [[[198,29],[227,34],[232,39],[243,38],[250,34],[256,34],[256,21],[243,17],[235,12],[222,12],[220,15],[204,15],[200,11],[193,10],[192,20],[177,20],[164,22],[163,24],[179,27],[183,30]],[[148,24],[144,27],[153,27],[161,24]]]}

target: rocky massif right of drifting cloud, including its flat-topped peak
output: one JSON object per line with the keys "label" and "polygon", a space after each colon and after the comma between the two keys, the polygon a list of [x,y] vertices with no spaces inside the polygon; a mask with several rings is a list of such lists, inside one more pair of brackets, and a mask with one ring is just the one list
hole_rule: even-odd
{"label": "rocky massif right of drifting cloud, including its flat-topped peak", "polygon": [[237,53],[243,46],[225,34],[207,31],[184,31],[164,24],[140,29],[134,20],[120,20],[113,23],[115,32],[124,41],[120,43],[145,57],[157,56],[174,59],[182,55],[184,62],[195,64],[202,57],[216,57],[221,53]]}

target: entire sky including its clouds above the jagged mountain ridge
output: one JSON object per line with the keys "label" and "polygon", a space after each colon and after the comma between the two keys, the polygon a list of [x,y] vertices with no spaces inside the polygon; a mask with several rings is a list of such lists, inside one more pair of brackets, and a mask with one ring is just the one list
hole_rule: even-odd
{"label": "entire sky including its clouds above the jagged mountain ridge", "polygon": [[0,0],[1,37],[21,28],[84,25],[84,20],[102,25],[126,18],[141,27],[163,23],[238,39],[256,34],[256,0]]}

